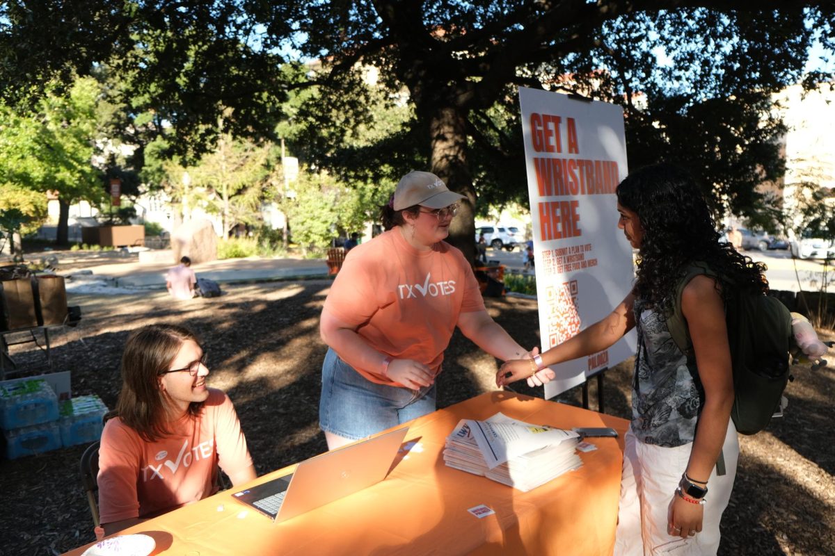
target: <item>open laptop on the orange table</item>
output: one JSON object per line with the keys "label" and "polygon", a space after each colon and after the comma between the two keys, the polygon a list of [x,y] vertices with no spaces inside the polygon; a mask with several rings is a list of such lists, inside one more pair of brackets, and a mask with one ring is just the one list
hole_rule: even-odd
{"label": "open laptop on the orange table", "polygon": [[276,523],[356,493],[386,478],[408,427],[322,453],[296,471],[233,496]]}

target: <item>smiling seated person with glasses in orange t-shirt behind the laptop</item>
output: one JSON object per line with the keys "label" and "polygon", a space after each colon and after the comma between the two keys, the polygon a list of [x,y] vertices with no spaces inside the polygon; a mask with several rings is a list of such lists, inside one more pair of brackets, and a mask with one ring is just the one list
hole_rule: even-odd
{"label": "smiling seated person with glasses in orange t-shirt behind the laptop", "polygon": [[256,478],[235,408],[206,386],[205,363],[194,333],[180,326],[154,324],[128,338],[99,448],[104,534],[216,493],[218,465],[235,486]]}

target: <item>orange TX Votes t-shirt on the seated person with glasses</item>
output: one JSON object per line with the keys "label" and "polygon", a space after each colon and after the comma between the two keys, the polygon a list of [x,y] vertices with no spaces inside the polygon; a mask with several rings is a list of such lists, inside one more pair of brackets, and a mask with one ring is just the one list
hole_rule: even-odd
{"label": "orange TX Votes t-shirt on the seated person with glasses", "polygon": [[101,523],[148,518],[217,491],[217,466],[252,465],[238,415],[225,393],[209,388],[203,410],[172,425],[172,434],[145,442],[118,417],[104,425],[99,447]]}

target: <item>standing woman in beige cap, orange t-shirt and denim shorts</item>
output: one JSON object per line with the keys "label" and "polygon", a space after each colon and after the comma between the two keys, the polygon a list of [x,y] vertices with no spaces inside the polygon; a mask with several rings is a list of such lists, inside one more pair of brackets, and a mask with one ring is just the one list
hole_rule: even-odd
{"label": "standing woman in beige cap, orange t-shirt and denim shorts", "polygon": [[455,327],[496,358],[528,352],[493,322],[463,254],[443,240],[463,195],[410,172],[382,207],[385,233],[348,253],[319,325],[319,423],[337,448],[435,410]]}

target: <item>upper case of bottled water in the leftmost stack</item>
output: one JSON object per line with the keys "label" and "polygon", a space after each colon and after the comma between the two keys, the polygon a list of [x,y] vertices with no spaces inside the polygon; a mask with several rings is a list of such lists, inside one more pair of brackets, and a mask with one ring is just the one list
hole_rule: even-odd
{"label": "upper case of bottled water in the leftmost stack", "polygon": [[0,427],[31,427],[58,419],[58,397],[43,379],[0,386]]}

